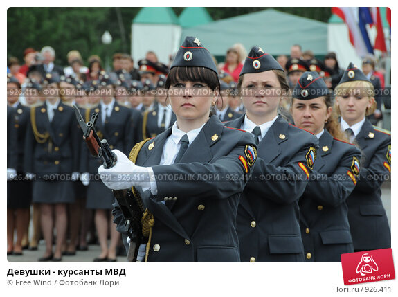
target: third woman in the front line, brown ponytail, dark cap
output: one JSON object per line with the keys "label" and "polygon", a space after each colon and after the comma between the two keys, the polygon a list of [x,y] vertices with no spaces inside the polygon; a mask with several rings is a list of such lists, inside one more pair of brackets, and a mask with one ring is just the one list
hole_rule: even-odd
{"label": "third woman in the front line, brown ponytail, dark cap", "polygon": [[346,142],[333,99],[315,71],[302,74],[291,106],[294,123],[314,133],[320,147],[298,202],[306,262],[340,262],[342,253],[354,251],[345,200],[357,183],[361,152]]}

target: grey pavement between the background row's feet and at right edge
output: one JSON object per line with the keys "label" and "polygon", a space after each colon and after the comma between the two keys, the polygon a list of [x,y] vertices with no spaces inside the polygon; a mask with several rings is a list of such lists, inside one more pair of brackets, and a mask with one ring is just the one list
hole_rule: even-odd
{"label": "grey pavement between the background row's feet and at right edge", "polygon": [[[391,182],[383,183],[381,187],[381,200],[386,208],[388,223],[391,228]],[[8,262],[37,262],[37,259],[44,255],[44,241],[39,242],[37,251],[24,250],[23,255],[8,255]],[[88,251],[76,251],[76,255],[63,256],[62,262],[93,262],[93,259],[100,255],[100,246],[98,244],[89,245]],[[126,256],[118,256],[117,262],[126,262]]]}

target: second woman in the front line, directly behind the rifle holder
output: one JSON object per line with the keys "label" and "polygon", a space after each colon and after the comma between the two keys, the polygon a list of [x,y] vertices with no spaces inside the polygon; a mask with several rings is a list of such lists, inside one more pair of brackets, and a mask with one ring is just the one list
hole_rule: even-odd
{"label": "second woman in the front line, directly behind the rifle holder", "polygon": [[227,125],[255,135],[258,159],[237,212],[242,262],[303,262],[298,199],[314,168],[318,139],[289,125],[278,106],[289,90],[280,64],[251,49],[238,82],[246,114]]}

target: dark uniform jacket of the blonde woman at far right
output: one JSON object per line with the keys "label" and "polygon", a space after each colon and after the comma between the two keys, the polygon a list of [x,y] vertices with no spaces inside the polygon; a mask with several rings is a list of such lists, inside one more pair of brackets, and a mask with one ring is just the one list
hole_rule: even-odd
{"label": "dark uniform jacket of the blonde woman at far right", "polygon": [[390,248],[391,232],[380,188],[390,176],[391,135],[365,120],[355,141],[363,159],[359,181],[347,199],[354,250]]}

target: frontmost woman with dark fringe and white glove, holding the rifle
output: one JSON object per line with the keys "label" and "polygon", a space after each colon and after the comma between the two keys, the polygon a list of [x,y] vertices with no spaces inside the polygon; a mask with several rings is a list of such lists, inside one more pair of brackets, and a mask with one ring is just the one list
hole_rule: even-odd
{"label": "frontmost woman with dark fringe and white glove, holding the rifle", "polygon": [[[146,251],[141,245],[138,260],[239,262],[235,216],[246,174],[255,161],[253,137],[224,127],[217,116],[209,118],[219,80],[215,63],[199,39],[186,37],[166,89],[177,122],[142,146],[138,166],[116,150],[116,166],[98,171],[109,173],[111,179],[117,179],[117,172],[131,172],[131,177],[137,177],[134,172],[140,176],[147,172],[143,182],[104,179],[113,189],[140,186],[143,203],[153,215]],[[253,154],[251,162],[248,151]],[[167,179],[169,174],[172,179]],[[117,206],[114,211],[120,230],[125,220]]]}

